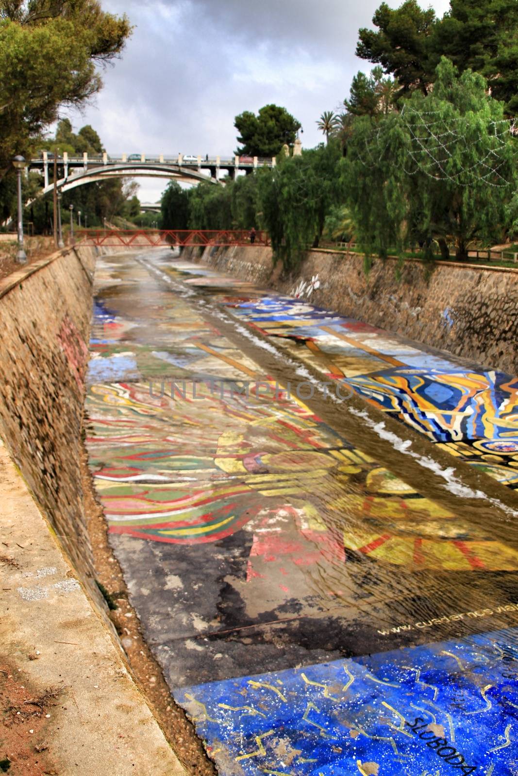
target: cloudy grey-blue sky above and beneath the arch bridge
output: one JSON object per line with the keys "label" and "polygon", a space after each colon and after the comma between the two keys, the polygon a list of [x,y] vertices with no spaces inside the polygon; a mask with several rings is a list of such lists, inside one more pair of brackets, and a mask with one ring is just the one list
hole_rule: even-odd
{"label": "cloudy grey-blue sky above and beneath the arch bridge", "polygon": [[[322,140],[315,121],[349,94],[358,29],[381,0],[103,0],[127,13],[134,33],[76,129],[91,123],[109,153],[220,154],[236,146],[234,117],[270,102],[301,121],[304,146]],[[389,0],[396,7],[399,2]],[[422,2],[442,15],[448,0]],[[138,179],[142,201],[166,181]]]}

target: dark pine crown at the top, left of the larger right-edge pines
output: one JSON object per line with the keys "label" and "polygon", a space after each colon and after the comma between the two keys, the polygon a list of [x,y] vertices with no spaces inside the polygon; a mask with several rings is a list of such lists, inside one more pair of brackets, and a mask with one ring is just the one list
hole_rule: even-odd
{"label": "dark pine crown at the top, left of the larger right-edge pines", "polygon": [[417,0],[405,0],[398,9],[384,2],[372,22],[378,29],[360,29],[356,56],[377,62],[393,74],[400,86],[398,96],[415,89],[426,95],[433,81],[429,37],[436,26],[435,11],[423,10]]}

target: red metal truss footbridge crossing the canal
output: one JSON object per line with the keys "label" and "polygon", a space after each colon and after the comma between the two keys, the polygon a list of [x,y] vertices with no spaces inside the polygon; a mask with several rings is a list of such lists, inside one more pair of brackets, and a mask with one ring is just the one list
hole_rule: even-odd
{"label": "red metal truss footbridge crossing the canal", "polygon": [[[268,245],[268,234],[255,233],[254,245]],[[99,229],[78,230],[78,240],[90,245],[124,245],[127,248],[146,245],[250,245],[249,230],[173,230],[173,229]]]}

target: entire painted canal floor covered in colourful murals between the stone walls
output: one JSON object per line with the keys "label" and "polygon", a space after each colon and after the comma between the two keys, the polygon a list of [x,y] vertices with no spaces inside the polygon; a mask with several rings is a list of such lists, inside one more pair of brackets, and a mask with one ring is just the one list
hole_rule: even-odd
{"label": "entire painted canal floor covered in colourful murals between the stone walls", "polygon": [[171,251],[95,283],[89,465],[219,773],[518,774],[513,378]]}

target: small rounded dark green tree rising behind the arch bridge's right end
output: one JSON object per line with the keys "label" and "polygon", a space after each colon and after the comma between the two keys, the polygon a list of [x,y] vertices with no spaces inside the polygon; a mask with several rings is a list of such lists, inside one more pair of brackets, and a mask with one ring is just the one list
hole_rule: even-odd
{"label": "small rounded dark green tree rising behind the arch bridge's right end", "polygon": [[256,116],[249,110],[235,117],[238,130],[238,154],[273,157],[280,153],[284,144],[293,145],[301,123],[294,119],[286,108],[266,105]]}

